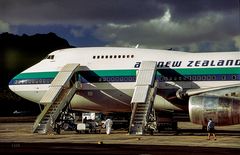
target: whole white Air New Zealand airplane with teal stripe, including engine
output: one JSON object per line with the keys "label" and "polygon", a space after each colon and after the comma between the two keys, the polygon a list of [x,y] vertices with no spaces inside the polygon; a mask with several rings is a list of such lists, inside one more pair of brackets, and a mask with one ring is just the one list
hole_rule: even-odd
{"label": "whole white Air New Zealand airplane with teal stripe, including engine", "polygon": [[66,64],[80,64],[74,111],[132,112],[131,99],[144,61],[156,63],[153,109],[182,111],[191,122],[240,123],[240,53],[82,47],[60,49],[16,75],[9,88],[38,104]]}

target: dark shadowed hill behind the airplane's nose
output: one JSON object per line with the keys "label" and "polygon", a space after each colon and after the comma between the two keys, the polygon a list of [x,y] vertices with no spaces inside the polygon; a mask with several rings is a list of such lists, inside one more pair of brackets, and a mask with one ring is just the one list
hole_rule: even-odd
{"label": "dark shadowed hill behind the airplane's nose", "polygon": [[30,103],[8,89],[9,81],[21,71],[34,65],[50,52],[70,48],[67,40],[54,33],[35,35],[0,34],[0,115],[13,111],[32,111],[37,113],[37,104]]}

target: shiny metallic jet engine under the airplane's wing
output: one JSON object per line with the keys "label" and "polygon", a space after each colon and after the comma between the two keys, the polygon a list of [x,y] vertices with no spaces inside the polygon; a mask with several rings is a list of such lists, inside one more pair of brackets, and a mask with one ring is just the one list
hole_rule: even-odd
{"label": "shiny metallic jet engine under the airplane's wing", "polygon": [[234,125],[240,123],[240,98],[198,95],[189,98],[190,120],[196,124],[207,125],[210,118],[215,125]]}

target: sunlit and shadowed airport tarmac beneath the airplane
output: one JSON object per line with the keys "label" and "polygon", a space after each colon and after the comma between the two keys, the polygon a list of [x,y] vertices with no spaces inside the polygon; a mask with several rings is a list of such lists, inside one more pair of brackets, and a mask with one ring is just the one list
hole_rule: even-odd
{"label": "sunlit and shadowed airport tarmac beneath the airplane", "polygon": [[216,127],[217,140],[207,140],[200,125],[179,122],[179,132],[162,131],[154,135],[129,135],[113,130],[107,135],[32,133],[31,123],[0,123],[0,153],[82,153],[82,154],[238,154],[240,125]]}

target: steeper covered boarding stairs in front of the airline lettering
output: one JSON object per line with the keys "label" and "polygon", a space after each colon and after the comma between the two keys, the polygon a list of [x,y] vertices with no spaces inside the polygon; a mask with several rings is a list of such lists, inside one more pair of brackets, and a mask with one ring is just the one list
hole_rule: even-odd
{"label": "steeper covered boarding stairs in front of the airline lettering", "polygon": [[131,101],[132,114],[129,133],[143,135],[149,129],[150,119],[154,117],[153,103],[157,92],[156,62],[143,61],[138,70],[136,85]]}

